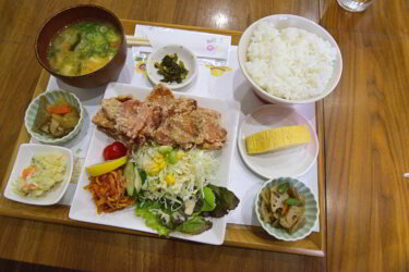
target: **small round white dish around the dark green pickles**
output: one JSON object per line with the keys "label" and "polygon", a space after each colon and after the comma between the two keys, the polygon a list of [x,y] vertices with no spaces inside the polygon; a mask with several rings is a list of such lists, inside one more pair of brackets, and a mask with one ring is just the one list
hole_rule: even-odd
{"label": "small round white dish around the dark green pickles", "polygon": [[157,73],[158,70],[155,67],[155,62],[160,63],[165,55],[172,53],[178,54],[179,60],[183,61],[184,67],[189,71],[187,78],[184,78],[182,83],[166,83],[171,89],[179,89],[190,84],[197,74],[196,55],[188,48],[180,45],[169,45],[158,48],[147,58],[146,72],[151,82],[154,84],[161,83],[160,81],[164,76]]}

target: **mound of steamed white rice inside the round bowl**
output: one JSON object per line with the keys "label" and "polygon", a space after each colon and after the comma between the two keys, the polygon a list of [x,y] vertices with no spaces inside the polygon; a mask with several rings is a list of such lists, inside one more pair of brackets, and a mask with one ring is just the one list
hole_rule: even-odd
{"label": "mound of steamed white rice inside the round bowl", "polygon": [[246,49],[245,69],[269,95],[302,100],[327,89],[336,58],[336,48],[313,33],[261,22]]}

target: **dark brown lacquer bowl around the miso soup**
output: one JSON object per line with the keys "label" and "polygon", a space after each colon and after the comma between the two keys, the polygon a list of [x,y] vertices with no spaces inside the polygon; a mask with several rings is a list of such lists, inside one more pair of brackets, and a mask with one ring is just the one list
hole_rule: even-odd
{"label": "dark brown lacquer bowl around the miso soup", "polygon": [[[48,50],[51,40],[67,26],[81,21],[98,21],[113,25],[120,34],[118,52],[103,67],[84,75],[62,75],[57,73],[48,61]],[[52,15],[40,28],[35,41],[35,52],[38,62],[50,74],[62,82],[80,88],[93,88],[118,78],[127,60],[127,40],[119,18],[107,9],[98,5],[81,4],[64,9]]]}

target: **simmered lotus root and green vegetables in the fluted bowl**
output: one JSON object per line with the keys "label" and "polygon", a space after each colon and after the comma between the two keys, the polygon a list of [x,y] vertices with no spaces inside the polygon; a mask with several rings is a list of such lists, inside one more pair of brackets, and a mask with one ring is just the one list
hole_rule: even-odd
{"label": "simmered lotus root and green vegetables in the fluted bowl", "polygon": [[261,217],[274,227],[293,233],[305,224],[304,198],[289,183],[262,190]]}

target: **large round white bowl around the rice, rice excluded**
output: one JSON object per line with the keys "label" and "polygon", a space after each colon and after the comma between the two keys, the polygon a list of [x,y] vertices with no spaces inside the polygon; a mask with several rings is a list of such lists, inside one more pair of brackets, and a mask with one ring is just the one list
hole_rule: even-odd
{"label": "large round white bowl around the rice, rice excluded", "polygon": [[[267,94],[265,90],[258,87],[257,84],[251,78],[251,76],[249,75],[245,69],[246,50],[250,45],[251,37],[253,36],[253,32],[257,27],[257,24],[261,22],[265,22],[265,21],[274,23],[278,29],[282,29],[287,27],[298,27],[298,28],[308,30],[310,33],[314,33],[318,37],[323,38],[324,40],[329,41],[329,44],[336,49],[337,58],[334,64],[334,73],[333,73],[332,78],[328,82],[327,88],[322,95],[313,97],[313,98],[300,99],[300,100],[284,99],[284,98]],[[240,67],[243,71],[244,76],[253,86],[255,94],[258,97],[261,97],[263,100],[270,102],[270,103],[311,103],[311,102],[318,101],[323,99],[324,97],[328,96],[335,89],[335,87],[338,85],[339,78],[342,73],[342,57],[339,51],[338,45],[334,40],[333,36],[330,36],[330,34],[318,24],[312,22],[311,20],[297,16],[297,15],[275,14],[275,15],[263,17],[254,22],[252,25],[250,25],[245,29],[243,35],[241,35],[239,49],[238,49],[238,58],[239,58]]]}

